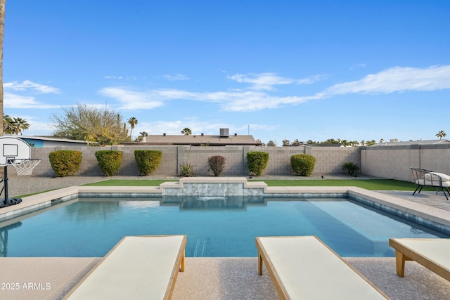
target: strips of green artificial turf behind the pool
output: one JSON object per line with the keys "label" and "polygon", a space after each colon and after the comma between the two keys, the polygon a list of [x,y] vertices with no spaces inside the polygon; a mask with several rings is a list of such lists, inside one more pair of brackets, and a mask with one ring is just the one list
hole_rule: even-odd
{"label": "strips of green artificial turf behind the pool", "polygon": [[[89,183],[91,186],[158,186],[166,181],[177,180],[118,180],[110,179]],[[415,190],[416,185],[407,181],[397,181],[394,179],[300,179],[300,180],[254,180],[264,181],[269,186],[356,186],[367,190]],[[425,188],[423,188],[425,190]],[[434,190],[434,189],[430,189]]]}

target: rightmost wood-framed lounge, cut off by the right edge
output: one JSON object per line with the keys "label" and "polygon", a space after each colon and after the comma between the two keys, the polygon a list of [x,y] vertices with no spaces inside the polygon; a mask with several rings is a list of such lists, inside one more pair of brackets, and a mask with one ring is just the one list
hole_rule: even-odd
{"label": "rightmost wood-framed lounge, cut off by the right edge", "polygon": [[450,280],[450,239],[390,238],[395,249],[397,275],[404,276],[405,261],[417,261],[425,268]]}

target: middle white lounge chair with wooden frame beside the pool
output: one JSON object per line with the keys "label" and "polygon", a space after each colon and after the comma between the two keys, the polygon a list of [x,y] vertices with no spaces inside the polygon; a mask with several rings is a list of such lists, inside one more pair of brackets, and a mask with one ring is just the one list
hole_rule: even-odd
{"label": "middle white lounge chair with wooden frame beside the pool", "polygon": [[315,236],[256,237],[280,299],[389,299]]}

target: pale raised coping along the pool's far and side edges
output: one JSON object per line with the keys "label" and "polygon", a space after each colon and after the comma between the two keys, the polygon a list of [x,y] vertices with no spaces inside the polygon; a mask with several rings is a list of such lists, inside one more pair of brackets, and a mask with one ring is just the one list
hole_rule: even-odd
{"label": "pale raised coping along the pool's far and side edges", "polygon": [[247,181],[244,177],[188,177],[179,181],[169,181],[159,186],[71,186],[45,193],[23,197],[19,204],[0,209],[0,222],[30,214],[47,207],[55,201],[65,202],[79,195],[95,194],[103,197],[140,197],[149,195],[162,197],[166,189],[183,189],[188,183],[242,183],[243,189],[263,190],[263,197],[349,197],[351,200],[367,204],[376,209],[414,221],[420,225],[450,234],[449,211],[411,202],[391,195],[354,186],[277,186],[271,187],[263,181]]}

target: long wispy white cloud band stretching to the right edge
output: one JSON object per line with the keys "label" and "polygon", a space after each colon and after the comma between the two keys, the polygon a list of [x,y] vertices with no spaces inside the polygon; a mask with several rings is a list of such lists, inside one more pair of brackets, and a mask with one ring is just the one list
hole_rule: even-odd
{"label": "long wispy white cloud band stretching to the right edge", "polygon": [[252,87],[255,91],[191,92],[178,89],[131,91],[131,89],[123,87],[108,87],[101,89],[100,93],[103,96],[116,98],[122,104],[120,108],[127,110],[160,107],[168,100],[194,100],[219,103],[221,109],[226,111],[250,112],[276,108],[281,105],[297,105],[308,100],[350,93],[394,93],[409,90],[450,89],[450,65],[428,68],[393,67],[377,74],[369,74],[363,79],[335,84],[313,96],[276,96],[271,91],[271,86],[277,84],[312,84],[323,78],[320,75],[307,79],[288,79],[272,73],[263,73],[254,77],[234,74],[228,78],[253,84]]}

